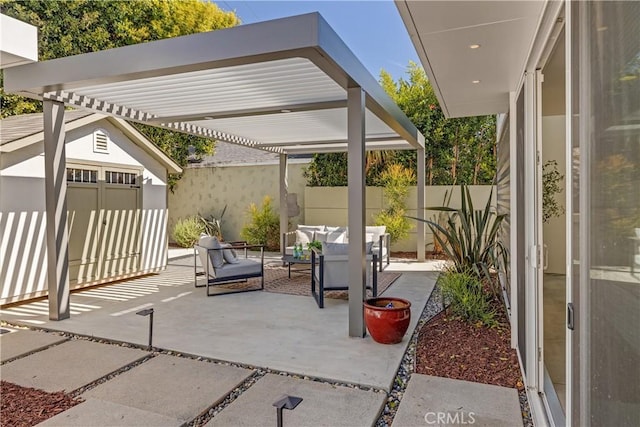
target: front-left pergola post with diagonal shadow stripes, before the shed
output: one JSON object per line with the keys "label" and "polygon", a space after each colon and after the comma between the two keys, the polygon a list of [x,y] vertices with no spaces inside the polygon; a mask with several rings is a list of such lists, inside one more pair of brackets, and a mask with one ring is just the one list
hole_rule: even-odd
{"label": "front-left pergola post with diagonal shadow stripes, before the shed", "polygon": [[63,320],[70,316],[64,104],[45,99],[43,109],[49,319]]}

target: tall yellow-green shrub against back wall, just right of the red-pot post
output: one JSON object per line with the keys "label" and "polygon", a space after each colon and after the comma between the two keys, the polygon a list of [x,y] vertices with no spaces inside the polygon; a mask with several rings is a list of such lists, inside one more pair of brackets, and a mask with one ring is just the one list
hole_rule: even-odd
{"label": "tall yellow-green shrub against back wall, just right of the red-pot post", "polygon": [[415,174],[412,170],[399,164],[387,166],[380,181],[384,184],[382,190],[387,198],[388,207],[374,216],[375,225],[387,227],[387,233],[391,242],[397,242],[409,235],[413,228],[407,216],[405,216],[406,198],[409,186],[415,184]]}

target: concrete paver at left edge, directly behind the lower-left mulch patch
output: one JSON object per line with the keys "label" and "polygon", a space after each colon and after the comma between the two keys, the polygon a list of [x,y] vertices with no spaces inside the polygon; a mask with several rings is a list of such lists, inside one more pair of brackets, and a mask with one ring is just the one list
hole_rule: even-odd
{"label": "concrete paver at left edge, directly behind the lower-left mulch patch", "polygon": [[49,392],[70,392],[146,354],[133,348],[71,340],[2,365],[2,379]]}

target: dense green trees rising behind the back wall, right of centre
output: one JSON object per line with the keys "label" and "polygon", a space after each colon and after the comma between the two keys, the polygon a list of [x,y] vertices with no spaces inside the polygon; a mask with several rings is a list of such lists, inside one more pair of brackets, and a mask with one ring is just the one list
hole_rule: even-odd
{"label": "dense green trees rising behind the back wall, right of centre", "polygon": [[[380,84],[425,136],[427,185],[490,184],[496,166],[495,116],[447,119],[422,67],[410,62],[407,74],[407,80],[396,82],[383,70]],[[382,171],[394,163],[415,171],[416,152],[368,152],[367,185],[382,185]],[[305,173],[308,185],[347,185],[346,164],[343,153],[315,155]]]}

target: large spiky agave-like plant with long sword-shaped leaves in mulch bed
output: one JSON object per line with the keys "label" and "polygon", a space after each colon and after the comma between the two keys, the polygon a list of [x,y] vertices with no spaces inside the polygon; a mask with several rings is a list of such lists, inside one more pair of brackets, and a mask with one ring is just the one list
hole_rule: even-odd
{"label": "large spiky agave-like plant with long sword-shaped leaves in mulch bed", "polygon": [[462,205],[460,209],[448,206],[428,207],[427,210],[447,212],[445,224],[428,219],[413,218],[427,223],[434,238],[442,246],[445,255],[453,262],[457,272],[472,270],[478,277],[490,277],[491,269],[498,269],[502,258],[507,265],[507,248],[498,239],[498,232],[505,214],[497,215],[491,210],[491,196],[484,209],[474,209],[471,192],[466,185],[460,186]]}

